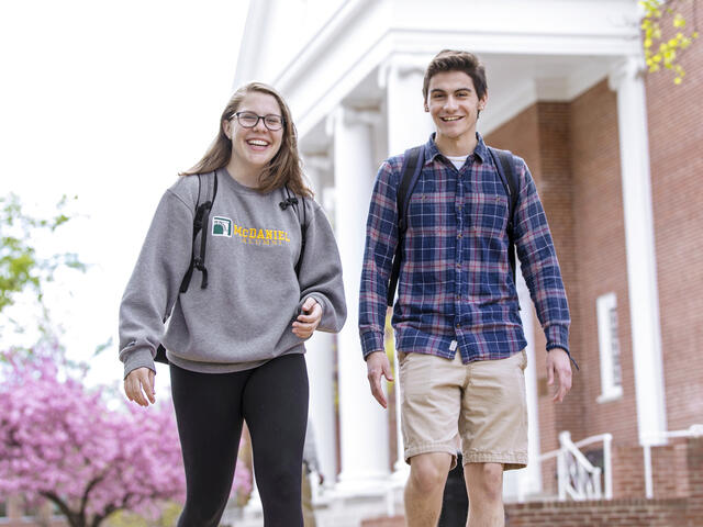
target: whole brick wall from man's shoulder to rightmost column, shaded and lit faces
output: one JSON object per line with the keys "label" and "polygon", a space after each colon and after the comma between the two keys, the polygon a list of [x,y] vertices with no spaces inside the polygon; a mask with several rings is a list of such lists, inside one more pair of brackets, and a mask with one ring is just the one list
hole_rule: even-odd
{"label": "whole brick wall from man's shoulder to rightmost column, shaded and lit faces", "polygon": [[[603,81],[570,103],[539,102],[486,139],[511,149],[529,166],[569,296],[570,346],[581,371],[574,372],[566,402],[555,405],[546,386],[545,354],[537,352],[540,450],[558,448],[558,433],[565,429],[574,440],[612,431],[616,440],[632,442],[637,425],[615,94]],[[610,291],[618,300],[625,395],[596,404],[601,385],[595,299]],[[544,350],[539,328],[535,344]],[[554,474],[555,467],[547,463],[546,490],[556,489]]]}

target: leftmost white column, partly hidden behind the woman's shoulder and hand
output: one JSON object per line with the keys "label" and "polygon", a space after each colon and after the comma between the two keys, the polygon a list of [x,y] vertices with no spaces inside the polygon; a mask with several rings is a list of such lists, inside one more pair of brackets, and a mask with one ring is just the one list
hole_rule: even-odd
{"label": "leftmost white column, partly hidden behind the woman's shoulder and hand", "polygon": [[[331,169],[327,157],[305,156],[305,175],[320,201],[324,172]],[[320,471],[325,486],[333,485],[337,475],[337,433],[335,426],[334,337],[315,332],[308,343],[308,378],[310,379],[310,421],[313,424]]]}

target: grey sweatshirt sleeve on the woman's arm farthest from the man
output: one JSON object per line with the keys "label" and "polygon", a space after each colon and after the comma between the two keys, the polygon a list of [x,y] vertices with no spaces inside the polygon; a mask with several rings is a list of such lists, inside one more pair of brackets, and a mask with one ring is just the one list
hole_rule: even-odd
{"label": "grey sweatshirt sleeve on the woman's arm farthest from the man", "polygon": [[171,190],[166,191],[120,304],[120,360],[125,378],[136,368],[155,370],[164,323],[190,265],[192,222],[191,208]]}

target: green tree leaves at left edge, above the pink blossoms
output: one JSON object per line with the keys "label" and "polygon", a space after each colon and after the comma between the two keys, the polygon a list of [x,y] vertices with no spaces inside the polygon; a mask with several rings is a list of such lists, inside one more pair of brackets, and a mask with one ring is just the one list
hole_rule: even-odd
{"label": "green tree leaves at left edge, above the pink blossoms", "polygon": [[42,302],[42,284],[54,279],[59,267],[80,271],[85,266],[72,253],[43,257],[33,246],[33,236],[37,232],[54,233],[70,220],[63,211],[67,205],[64,197],[56,206],[56,215],[37,218],[22,210],[15,194],[0,197],[0,312],[14,303],[14,296],[32,289]]}

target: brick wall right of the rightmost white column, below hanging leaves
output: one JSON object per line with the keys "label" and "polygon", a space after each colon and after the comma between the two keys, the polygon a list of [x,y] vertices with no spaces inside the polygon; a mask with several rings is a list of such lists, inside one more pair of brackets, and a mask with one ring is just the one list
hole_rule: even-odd
{"label": "brick wall right of the rightmost white column, below hanging leaves", "polygon": [[[693,25],[693,4],[703,22],[703,1],[678,2]],[[670,16],[665,19],[670,36]],[[647,110],[654,195],[661,341],[669,429],[703,421],[703,41],[682,53],[687,71],[647,75]]]}

